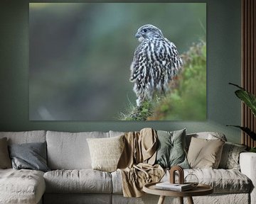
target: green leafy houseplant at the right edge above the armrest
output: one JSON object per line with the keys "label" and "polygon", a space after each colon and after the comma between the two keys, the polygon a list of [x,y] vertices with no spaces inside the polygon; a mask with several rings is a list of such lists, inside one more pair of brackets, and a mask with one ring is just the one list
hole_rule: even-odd
{"label": "green leafy houseplant at the right edge above the armrest", "polygon": [[[235,91],[235,95],[238,96],[238,98],[240,98],[240,100],[243,101],[245,105],[250,108],[250,110],[252,111],[252,114],[256,117],[256,96],[249,93],[248,91],[246,91],[241,86],[238,86],[237,84],[232,84],[232,83],[229,83],[229,84],[239,88],[237,91]],[[227,125],[227,126],[240,128],[243,132],[249,135],[252,138],[252,140],[256,140],[256,132],[253,132],[252,130],[250,130],[250,128],[242,127],[239,125]],[[256,147],[252,147],[250,149],[250,152],[256,152]]]}

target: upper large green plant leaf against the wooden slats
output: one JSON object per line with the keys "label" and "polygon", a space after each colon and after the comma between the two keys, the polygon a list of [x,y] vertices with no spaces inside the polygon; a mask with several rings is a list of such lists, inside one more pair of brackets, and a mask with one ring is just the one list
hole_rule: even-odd
{"label": "upper large green plant leaf against the wooden slats", "polygon": [[236,84],[231,84],[231,85],[237,86],[239,88],[239,90],[235,91],[235,95],[238,96],[238,98],[240,98],[246,104],[246,106],[250,108],[253,115],[255,115],[256,117],[256,96],[254,96],[253,94],[250,94],[245,89],[243,89],[242,87]]}

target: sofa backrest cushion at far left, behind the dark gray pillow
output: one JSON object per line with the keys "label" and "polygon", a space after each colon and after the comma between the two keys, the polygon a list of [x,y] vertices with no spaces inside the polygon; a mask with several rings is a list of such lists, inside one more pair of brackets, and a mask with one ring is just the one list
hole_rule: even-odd
{"label": "sofa backrest cushion at far left, behind the dark gray pillow", "polygon": [[45,130],[33,130],[25,132],[0,132],[0,138],[7,137],[8,145],[30,142],[46,142]]}

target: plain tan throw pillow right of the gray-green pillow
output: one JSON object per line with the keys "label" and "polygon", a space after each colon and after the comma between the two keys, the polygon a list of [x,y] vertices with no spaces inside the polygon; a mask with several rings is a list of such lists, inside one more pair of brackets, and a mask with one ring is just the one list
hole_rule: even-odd
{"label": "plain tan throw pillow right of the gray-green pillow", "polygon": [[188,164],[195,169],[218,169],[224,144],[225,142],[219,139],[206,140],[192,137],[188,149]]}

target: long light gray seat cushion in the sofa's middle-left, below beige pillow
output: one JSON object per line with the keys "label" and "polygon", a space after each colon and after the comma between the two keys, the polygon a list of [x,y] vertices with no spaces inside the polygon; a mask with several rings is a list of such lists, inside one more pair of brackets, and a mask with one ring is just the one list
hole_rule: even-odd
{"label": "long light gray seat cushion in the sofa's middle-left, below beige pillow", "polygon": [[111,174],[92,169],[55,170],[44,174],[47,193],[111,193]]}

